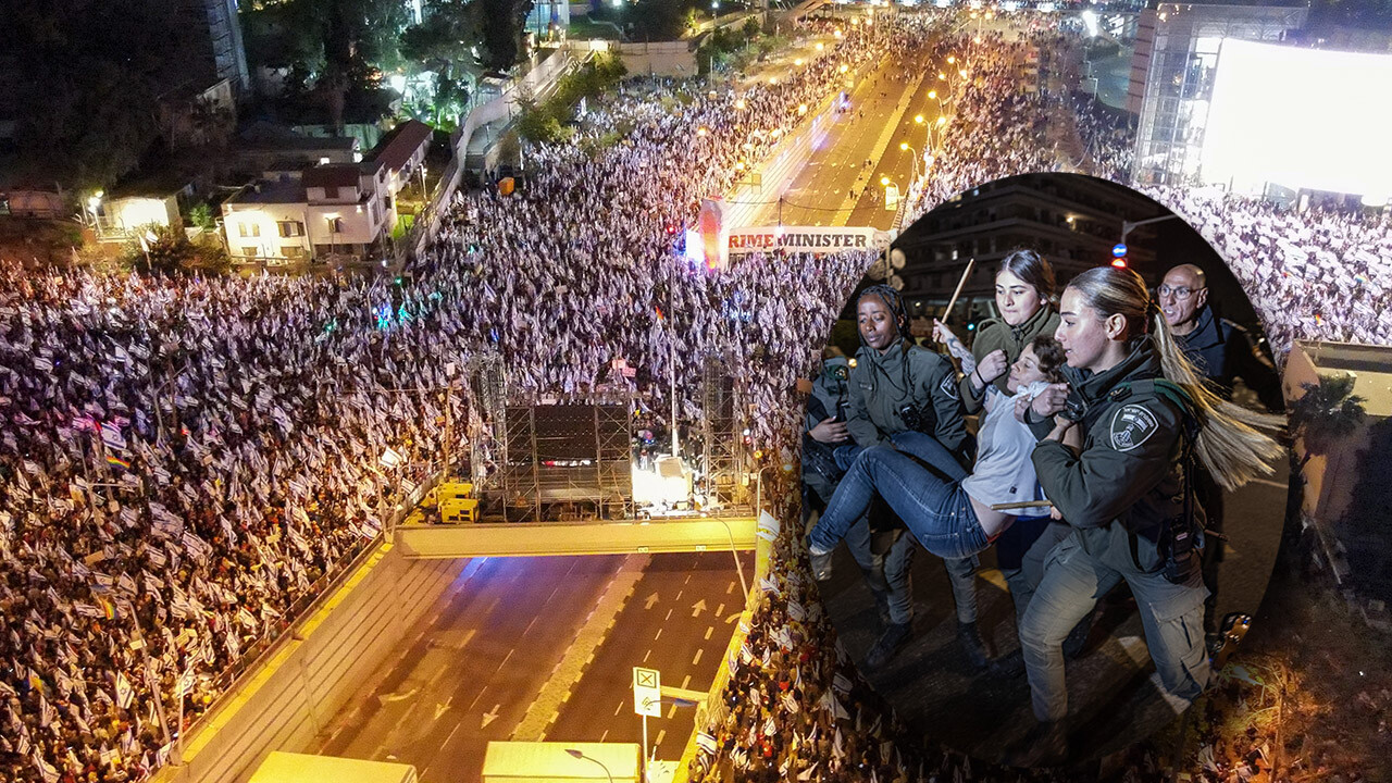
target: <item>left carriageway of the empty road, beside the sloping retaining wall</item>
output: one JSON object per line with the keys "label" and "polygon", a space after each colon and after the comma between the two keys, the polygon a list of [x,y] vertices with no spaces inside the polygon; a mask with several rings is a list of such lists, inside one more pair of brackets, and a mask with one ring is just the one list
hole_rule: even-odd
{"label": "left carriageway of the empty road, beside the sloping retaining wall", "polygon": [[426,783],[476,780],[508,740],[614,578],[622,556],[470,563],[401,656],[326,716],[315,752],[415,765]]}

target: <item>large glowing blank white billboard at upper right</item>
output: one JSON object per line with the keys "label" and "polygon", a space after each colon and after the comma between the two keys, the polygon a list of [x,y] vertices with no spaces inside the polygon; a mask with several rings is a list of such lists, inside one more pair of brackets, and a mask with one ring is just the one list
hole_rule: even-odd
{"label": "large glowing blank white billboard at upper right", "polygon": [[1392,56],[1226,39],[1201,153],[1205,184],[1392,194]]}

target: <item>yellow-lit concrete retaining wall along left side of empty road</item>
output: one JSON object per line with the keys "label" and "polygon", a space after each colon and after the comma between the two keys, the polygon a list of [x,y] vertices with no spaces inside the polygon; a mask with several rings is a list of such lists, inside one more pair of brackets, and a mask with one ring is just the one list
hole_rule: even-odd
{"label": "yellow-lit concrete retaining wall along left side of empty road", "polygon": [[398,653],[406,628],[466,564],[408,560],[391,543],[379,546],[264,667],[237,684],[189,738],[184,763],[166,766],[156,780],[242,783],[270,751],[316,751],[324,723]]}

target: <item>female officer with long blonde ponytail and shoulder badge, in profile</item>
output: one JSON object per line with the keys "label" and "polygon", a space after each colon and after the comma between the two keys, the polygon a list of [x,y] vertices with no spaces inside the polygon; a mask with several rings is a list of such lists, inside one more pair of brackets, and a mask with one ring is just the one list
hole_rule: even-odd
{"label": "female officer with long blonde ponytail and shoulder badge, in profile", "polygon": [[[1260,415],[1208,392],[1169,333],[1140,274],[1104,266],[1063,291],[1055,337],[1066,385],[1052,385],[1019,412],[1041,437],[1033,453],[1045,496],[1072,534],[1050,555],[1020,626],[1036,734],[1033,763],[1068,755],[1068,690],[1061,642],[1097,600],[1125,580],[1165,691],[1193,699],[1208,684],[1197,566],[1201,510],[1186,464],[1203,463],[1224,486],[1240,486],[1276,446],[1249,426]],[[1076,440],[1080,450],[1063,443]]]}

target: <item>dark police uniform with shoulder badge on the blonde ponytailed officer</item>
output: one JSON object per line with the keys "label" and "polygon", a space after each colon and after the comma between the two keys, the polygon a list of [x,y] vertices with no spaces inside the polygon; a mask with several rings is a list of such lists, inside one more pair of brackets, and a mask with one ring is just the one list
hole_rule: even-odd
{"label": "dark police uniform with shoulder badge on the blonde ponytailed officer", "polygon": [[[1160,357],[1144,341],[1119,365],[1083,373],[1065,368],[1084,411],[1083,450],[1041,440],[1033,453],[1044,493],[1075,529],[1050,555],[1044,580],[1020,624],[1034,715],[1068,716],[1061,644],[1097,598],[1125,580],[1136,596],[1146,644],[1171,694],[1197,697],[1208,684],[1197,568],[1185,584],[1164,573],[1169,522],[1186,504],[1183,407],[1161,393]],[[1029,424],[1044,437],[1052,421]],[[1194,509],[1194,513],[1199,513]]]}

